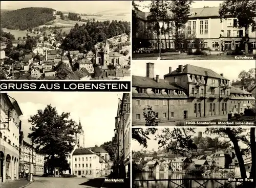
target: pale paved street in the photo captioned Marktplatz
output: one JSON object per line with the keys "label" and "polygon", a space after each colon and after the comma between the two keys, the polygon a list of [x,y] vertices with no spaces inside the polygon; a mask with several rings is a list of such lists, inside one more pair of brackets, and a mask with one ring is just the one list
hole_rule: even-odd
{"label": "pale paved street in the photo captioned Marktplatz", "polygon": [[26,188],[100,188],[125,187],[119,183],[103,183],[104,178],[61,178],[61,177],[34,177],[34,182]]}

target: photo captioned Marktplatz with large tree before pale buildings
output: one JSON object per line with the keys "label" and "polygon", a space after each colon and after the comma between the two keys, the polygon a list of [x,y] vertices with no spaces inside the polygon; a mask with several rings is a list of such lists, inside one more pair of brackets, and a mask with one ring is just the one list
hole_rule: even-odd
{"label": "photo captioned Marktplatz with large tree before pale buildings", "polygon": [[1,188],[130,187],[130,93],[0,96]]}

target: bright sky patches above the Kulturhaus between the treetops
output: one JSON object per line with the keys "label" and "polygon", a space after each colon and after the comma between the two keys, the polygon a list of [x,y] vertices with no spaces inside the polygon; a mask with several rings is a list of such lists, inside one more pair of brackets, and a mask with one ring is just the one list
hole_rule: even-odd
{"label": "bright sky patches above the Kulturhaus between the treetops", "polygon": [[[191,4],[191,8],[203,8],[203,7],[219,7],[220,4],[224,1],[194,1]],[[143,8],[144,6],[150,5],[151,1],[136,2],[137,5],[140,5],[139,10],[143,12],[150,12],[150,9]]]}

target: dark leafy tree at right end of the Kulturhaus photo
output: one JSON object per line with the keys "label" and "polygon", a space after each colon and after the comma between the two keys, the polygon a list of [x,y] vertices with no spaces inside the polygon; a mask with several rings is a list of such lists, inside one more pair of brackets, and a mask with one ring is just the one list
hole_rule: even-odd
{"label": "dark leafy tree at right end of the Kulturhaus photo", "polygon": [[256,2],[255,1],[224,1],[220,4],[219,15],[222,19],[228,17],[237,18],[237,22],[233,22],[234,28],[245,28],[245,53],[248,53],[248,29],[251,26],[251,32],[255,31],[256,17]]}

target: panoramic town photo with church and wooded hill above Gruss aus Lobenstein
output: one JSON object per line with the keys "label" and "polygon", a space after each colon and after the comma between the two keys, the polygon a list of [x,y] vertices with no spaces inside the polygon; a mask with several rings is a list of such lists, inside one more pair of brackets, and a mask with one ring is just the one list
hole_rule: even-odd
{"label": "panoramic town photo with church and wooded hill above Gruss aus Lobenstein", "polygon": [[1,1],[0,78],[130,80],[131,6]]}

